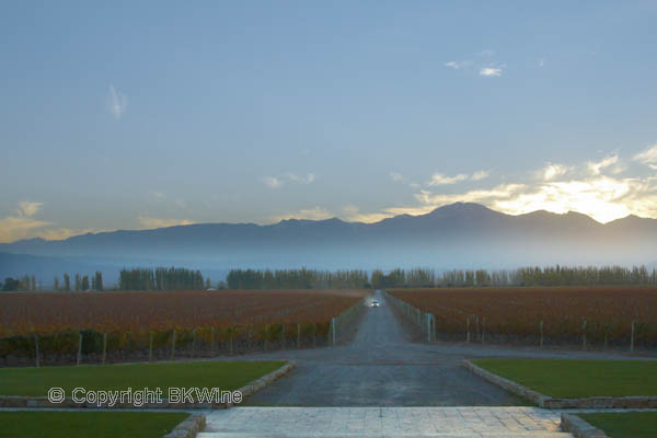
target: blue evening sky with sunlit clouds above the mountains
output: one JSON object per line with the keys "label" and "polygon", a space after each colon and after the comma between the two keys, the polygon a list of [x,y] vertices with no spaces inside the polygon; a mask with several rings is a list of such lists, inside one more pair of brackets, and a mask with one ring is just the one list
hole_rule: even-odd
{"label": "blue evening sky with sunlit clouds above the mountains", "polygon": [[21,1],[0,241],[377,221],[475,201],[657,218],[656,1]]}

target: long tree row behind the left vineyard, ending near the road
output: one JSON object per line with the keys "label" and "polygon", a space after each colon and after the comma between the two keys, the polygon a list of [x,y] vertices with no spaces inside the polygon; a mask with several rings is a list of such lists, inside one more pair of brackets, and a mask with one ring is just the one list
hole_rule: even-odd
{"label": "long tree row behind the left vineyard, ending near the road", "polygon": [[230,289],[350,289],[368,288],[369,276],[360,269],[232,269],[228,273]]}

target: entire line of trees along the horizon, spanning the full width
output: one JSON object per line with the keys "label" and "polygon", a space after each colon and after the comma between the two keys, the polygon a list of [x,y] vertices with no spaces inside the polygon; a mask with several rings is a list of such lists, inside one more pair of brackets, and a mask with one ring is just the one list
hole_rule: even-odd
{"label": "entire line of trees along the horizon, spanning the full width", "polygon": [[[400,288],[400,287],[486,287],[486,286],[603,286],[653,285],[657,286],[657,269],[646,266],[548,266],[518,269],[452,269],[437,275],[430,268],[374,269],[232,269],[226,283],[218,288],[230,289],[347,289],[347,288]],[[210,289],[209,278],[199,270],[178,267],[123,269],[115,289],[118,290],[200,290]],[[43,290],[34,275],[5,278],[0,283],[3,291]],[[64,274],[61,281],[55,277],[55,291],[105,290],[103,273],[76,274],[72,281]]]}

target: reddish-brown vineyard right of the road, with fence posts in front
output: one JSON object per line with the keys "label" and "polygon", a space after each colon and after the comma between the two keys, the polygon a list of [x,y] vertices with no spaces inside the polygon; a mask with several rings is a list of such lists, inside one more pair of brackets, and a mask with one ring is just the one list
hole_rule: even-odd
{"label": "reddish-brown vineyard right of the road, with fence posts in front", "polygon": [[390,289],[445,341],[657,347],[655,287]]}

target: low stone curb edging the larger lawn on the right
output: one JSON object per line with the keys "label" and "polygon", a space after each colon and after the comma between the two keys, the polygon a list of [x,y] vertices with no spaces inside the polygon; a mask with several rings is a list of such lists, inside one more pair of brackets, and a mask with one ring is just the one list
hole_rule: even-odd
{"label": "low stone curb edging the larger lawn on the right", "polygon": [[463,360],[463,366],[475,374],[486,379],[491,383],[504,388],[517,395],[520,395],[541,407],[549,410],[566,408],[655,408],[657,407],[657,396],[595,396],[584,399],[557,399],[541,394],[538,391],[529,389],[512,380],[505,379],[494,374],[470,360]]}

